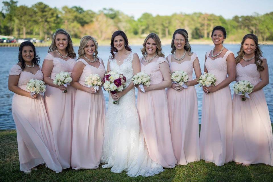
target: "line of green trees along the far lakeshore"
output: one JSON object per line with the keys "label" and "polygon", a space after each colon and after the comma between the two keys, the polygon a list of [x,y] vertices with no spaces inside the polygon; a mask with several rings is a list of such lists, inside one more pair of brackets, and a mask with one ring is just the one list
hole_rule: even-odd
{"label": "line of green trees along the far lakeshore", "polygon": [[170,16],[153,16],[143,13],[135,20],[115,9],[98,12],[84,10],[79,6],[63,6],[61,9],[38,2],[31,7],[20,5],[18,1],[3,1],[0,12],[0,34],[26,38],[38,35],[47,40],[57,28],[65,28],[72,37],[92,35],[98,40],[108,40],[115,30],[123,30],[133,38],[145,37],[150,32],[162,38],[170,38],[174,30],[184,28],[190,39],[210,38],[214,26],[224,26],[229,41],[240,41],[247,33],[256,34],[260,41],[273,40],[273,12],[264,15],[222,16],[204,13],[174,13]]}

